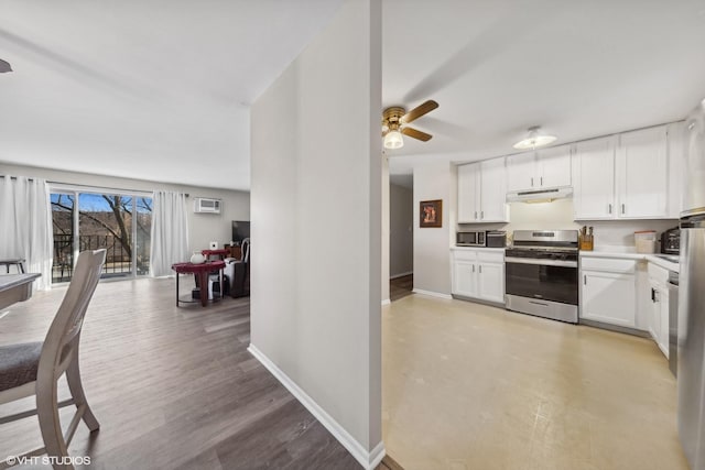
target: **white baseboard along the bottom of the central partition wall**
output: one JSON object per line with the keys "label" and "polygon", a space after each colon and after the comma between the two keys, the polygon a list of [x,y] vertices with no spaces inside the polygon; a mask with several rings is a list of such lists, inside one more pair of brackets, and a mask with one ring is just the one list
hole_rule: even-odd
{"label": "white baseboard along the bottom of the central partition wall", "polygon": [[271,372],[276,380],[281,382],[282,385],[291,392],[292,395],[299,402],[306,407],[311,412],[312,415],[326,428],[328,431],[335,437],[338,442],[345,447],[348,452],[355,457],[365,469],[375,470],[375,468],[379,464],[380,461],[384,458],[384,442],[379,442],[371,451],[365,450],[365,447],[360,445],[350,434],[345,430],[343,426],[338,422],[336,422],[333,416],[326,413],[306,392],[304,392],[296,383],[289,378],[281,369],[276,367],[274,362],[272,362],[262,351],[257,349],[257,347],[252,343],[247,348],[248,351],[254,358],[260,361],[268,371]]}

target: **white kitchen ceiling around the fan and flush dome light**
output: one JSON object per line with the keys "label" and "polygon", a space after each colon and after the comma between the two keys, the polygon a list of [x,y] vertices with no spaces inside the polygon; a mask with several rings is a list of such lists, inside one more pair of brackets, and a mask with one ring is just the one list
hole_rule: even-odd
{"label": "white kitchen ceiling around the fan and flush dome light", "polygon": [[675,121],[705,97],[705,0],[383,9],[383,105],[441,105],[413,123],[431,141],[386,151],[391,174],[516,153],[532,125],[561,144]]}

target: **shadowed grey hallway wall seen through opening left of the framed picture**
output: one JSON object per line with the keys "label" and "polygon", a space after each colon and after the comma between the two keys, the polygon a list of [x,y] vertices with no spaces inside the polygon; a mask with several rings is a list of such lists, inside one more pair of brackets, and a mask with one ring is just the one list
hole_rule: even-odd
{"label": "shadowed grey hallway wall seen through opening left of the framed picture", "polygon": [[[414,271],[414,195],[400,185],[389,185],[389,275]],[[387,283],[389,286],[389,283]]]}

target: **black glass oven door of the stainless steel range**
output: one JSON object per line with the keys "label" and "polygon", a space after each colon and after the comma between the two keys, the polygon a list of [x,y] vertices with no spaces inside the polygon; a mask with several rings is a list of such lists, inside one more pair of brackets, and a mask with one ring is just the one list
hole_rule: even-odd
{"label": "black glass oven door of the stainless steel range", "polygon": [[507,294],[577,305],[577,263],[507,258]]}

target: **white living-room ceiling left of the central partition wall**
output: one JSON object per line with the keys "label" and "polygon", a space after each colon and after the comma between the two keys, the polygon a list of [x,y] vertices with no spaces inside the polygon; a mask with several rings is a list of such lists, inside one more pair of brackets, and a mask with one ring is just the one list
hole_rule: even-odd
{"label": "white living-room ceiling left of the central partition wall", "polygon": [[249,190],[249,106],[340,3],[2,0],[0,161]]}

